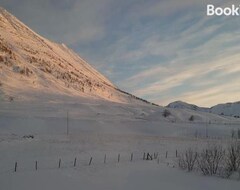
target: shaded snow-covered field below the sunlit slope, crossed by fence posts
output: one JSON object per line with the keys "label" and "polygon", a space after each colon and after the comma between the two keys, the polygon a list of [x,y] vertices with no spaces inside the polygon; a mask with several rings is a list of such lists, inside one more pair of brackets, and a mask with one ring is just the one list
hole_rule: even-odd
{"label": "shaded snow-covered field below the sunlit slope, crossed by fence posts", "polygon": [[[171,116],[165,118],[163,107],[44,94],[38,101],[1,102],[0,106],[0,189],[237,189],[239,186],[237,180],[180,171],[175,156],[176,150],[180,152],[187,147],[201,149],[209,142],[224,144],[232,129],[240,127],[237,119],[175,109],[169,109]],[[191,114],[198,120],[189,122]],[[34,138],[23,138],[24,135]],[[143,160],[144,152],[158,152],[159,163]],[[73,167],[75,158],[77,163]],[[15,162],[17,172],[14,172]]]}

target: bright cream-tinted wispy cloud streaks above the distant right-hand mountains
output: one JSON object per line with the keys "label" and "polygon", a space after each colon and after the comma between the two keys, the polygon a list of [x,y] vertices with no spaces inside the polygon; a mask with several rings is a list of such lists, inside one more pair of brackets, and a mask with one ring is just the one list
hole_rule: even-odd
{"label": "bright cream-tinted wispy cloud streaks above the distant right-hand mountains", "polygon": [[[209,21],[205,18],[203,20]],[[178,40],[165,43],[167,45],[161,51],[168,48],[176,50],[170,55],[172,59],[168,64],[154,65],[124,80],[123,84],[127,83],[136,95],[160,104],[178,99],[205,106],[222,101],[237,101],[237,97],[240,97],[236,96],[240,95],[237,85],[240,82],[240,33],[225,30],[220,32],[224,23],[204,27],[206,23],[203,20],[197,26],[193,25],[180,33],[181,38]],[[202,38],[207,40],[201,41]],[[201,42],[186,45],[194,41]],[[149,49],[157,51],[162,43],[155,40],[152,44],[154,45]],[[174,45],[175,48],[171,48]],[[177,52],[176,55],[174,52]],[[161,52],[157,54],[162,55]],[[148,78],[152,79],[149,84],[139,85]],[[215,93],[212,93],[212,89],[215,89]],[[226,92],[226,89],[229,91]]]}

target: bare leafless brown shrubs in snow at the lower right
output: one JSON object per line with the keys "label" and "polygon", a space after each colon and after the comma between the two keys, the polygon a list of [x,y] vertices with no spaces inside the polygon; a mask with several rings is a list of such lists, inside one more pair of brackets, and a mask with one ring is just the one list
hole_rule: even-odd
{"label": "bare leafless brown shrubs in snow at the lower right", "polygon": [[233,141],[226,148],[209,145],[201,151],[189,148],[178,156],[178,166],[208,176],[229,178],[238,173],[240,177],[240,142]]}

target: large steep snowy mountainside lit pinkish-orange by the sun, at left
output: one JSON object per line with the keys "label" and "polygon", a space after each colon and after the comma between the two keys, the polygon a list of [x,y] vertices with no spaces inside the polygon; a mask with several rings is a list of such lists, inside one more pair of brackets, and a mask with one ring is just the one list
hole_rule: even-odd
{"label": "large steep snowy mountainside lit pinkish-orange by the sun, at left", "polygon": [[[119,90],[64,44],[36,34],[0,8],[0,100],[29,99],[29,92],[103,98],[140,99]],[[26,98],[27,97],[27,98]]]}

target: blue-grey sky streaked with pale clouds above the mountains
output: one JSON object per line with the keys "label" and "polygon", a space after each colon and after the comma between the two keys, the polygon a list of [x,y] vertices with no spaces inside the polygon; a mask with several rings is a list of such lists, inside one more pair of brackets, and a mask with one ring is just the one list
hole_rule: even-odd
{"label": "blue-grey sky streaked with pale clouds above the mountains", "polygon": [[160,105],[240,101],[237,0],[0,0],[40,35],[74,49],[117,87]]}

